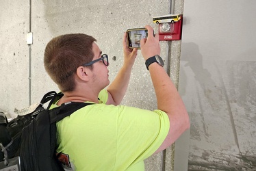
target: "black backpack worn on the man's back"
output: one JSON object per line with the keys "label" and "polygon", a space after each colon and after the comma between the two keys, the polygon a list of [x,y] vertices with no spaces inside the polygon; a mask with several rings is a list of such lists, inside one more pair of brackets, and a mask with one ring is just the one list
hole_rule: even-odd
{"label": "black backpack worn on the man's back", "polygon": [[10,122],[0,113],[0,170],[64,170],[55,151],[56,122],[91,103],[68,102],[49,109],[62,96],[62,93],[48,92],[35,111]]}

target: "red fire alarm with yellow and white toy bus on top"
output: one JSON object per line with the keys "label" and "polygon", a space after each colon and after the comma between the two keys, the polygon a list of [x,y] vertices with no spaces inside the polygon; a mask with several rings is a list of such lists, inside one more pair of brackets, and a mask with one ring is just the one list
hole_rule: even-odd
{"label": "red fire alarm with yellow and white toy bus on top", "polygon": [[159,40],[181,40],[183,14],[168,14],[153,17],[153,23],[159,25]]}

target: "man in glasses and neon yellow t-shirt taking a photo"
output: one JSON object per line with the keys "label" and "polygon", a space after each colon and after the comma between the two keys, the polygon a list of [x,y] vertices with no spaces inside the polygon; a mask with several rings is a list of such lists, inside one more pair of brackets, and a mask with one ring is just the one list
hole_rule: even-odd
{"label": "man in glasses and neon yellow t-shirt taking a photo", "polygon": [[57,123],[57,152],[64,168],[144,170],[144,159],[166,149],[190,127],[183,101],[161,66],[161,57],[155,57],[160,55],[159,36],[149,25],[146,29],[149,36],[140,42],[141,53],[157,96],[155,111],[119,105],[137,55],[137,49],[127,47],[126,34],[124,64],[110,86],[108,57],[94,38],[68,34],[47,44],[44,67],[64,93],[53,107],[68,101],[94,103]]}

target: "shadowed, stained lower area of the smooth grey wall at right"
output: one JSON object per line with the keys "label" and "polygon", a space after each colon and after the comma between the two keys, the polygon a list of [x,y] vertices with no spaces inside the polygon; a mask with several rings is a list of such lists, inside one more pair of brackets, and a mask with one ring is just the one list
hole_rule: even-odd
{"label": "shadowed, stained lower area of the smooth grey wall at right", "polygon": [[179,89],[192,120],[188,170],[256,170],[256,62],[203,58],[193,42],[181,49]]}

